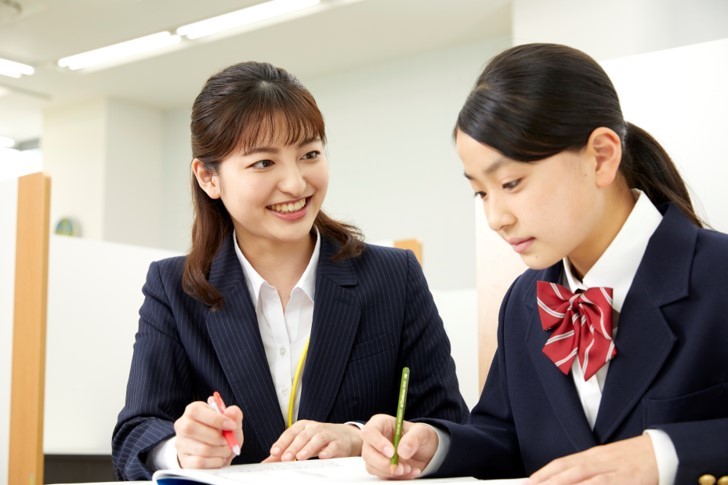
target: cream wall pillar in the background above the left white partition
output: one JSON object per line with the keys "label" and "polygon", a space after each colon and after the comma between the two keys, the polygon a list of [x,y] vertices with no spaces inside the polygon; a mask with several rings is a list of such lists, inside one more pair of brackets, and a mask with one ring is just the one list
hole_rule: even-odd
{"label": "cream wall pillar in the background above the left white partition", "polygon": [[162,245],[162,112],[117,99],[48,110],[44,171],[51,224],[73,216],[82,237]]}

